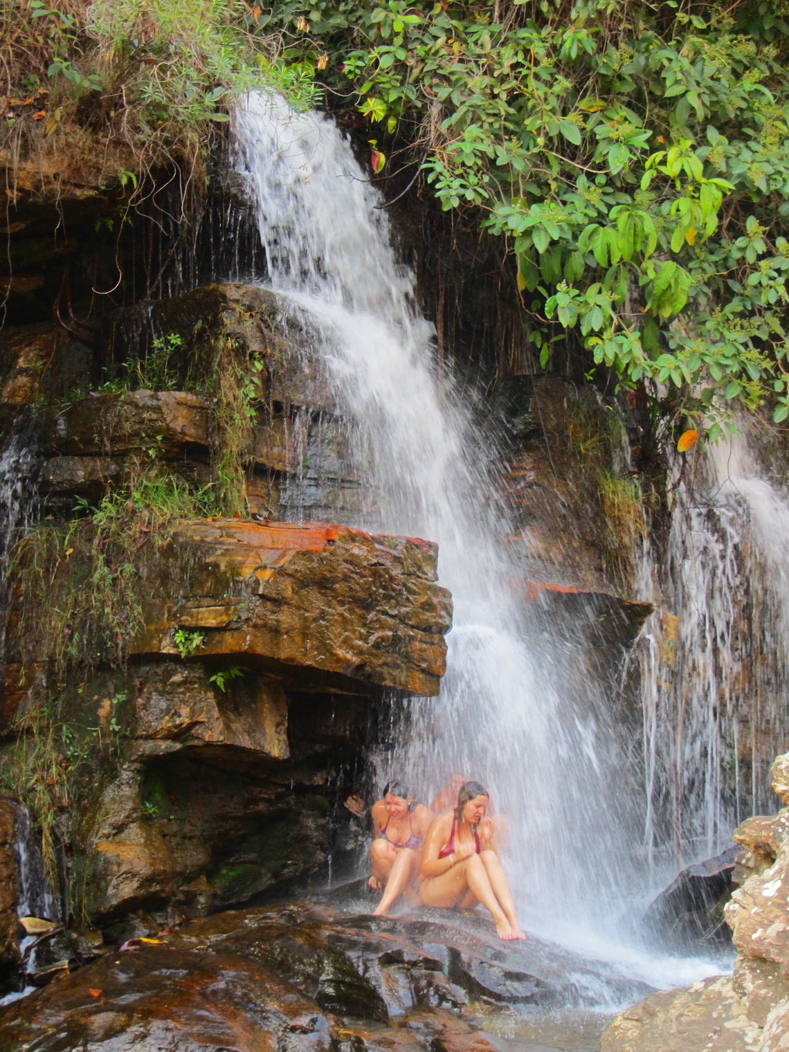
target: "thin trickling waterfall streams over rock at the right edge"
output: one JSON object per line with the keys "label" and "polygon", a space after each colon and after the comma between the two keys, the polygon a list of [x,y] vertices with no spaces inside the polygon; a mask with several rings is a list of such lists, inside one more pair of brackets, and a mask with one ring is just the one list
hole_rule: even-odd
{"label": "thin trickling waterfall streams over rock at the right edge", "polygon": [[643,569],[661,607],[641,643],[645,842],[674,869],[775,811],[770,765],[789,747],[789,497],[755,447],[741,421],[692,470],[674,465],[663,566]]}

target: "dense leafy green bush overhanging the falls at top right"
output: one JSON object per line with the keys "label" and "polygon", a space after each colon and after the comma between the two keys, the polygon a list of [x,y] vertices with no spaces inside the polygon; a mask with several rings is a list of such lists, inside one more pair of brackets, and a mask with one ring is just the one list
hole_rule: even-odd
{"label": "dense leafy green bush overhanging the falls at top right", "polygon": [[507,239],[544,365],[574,330],[628,384],[789,416],[785,0],[311,0],[264,24],[300,26],[286,57],[324,54],[442,206]]}

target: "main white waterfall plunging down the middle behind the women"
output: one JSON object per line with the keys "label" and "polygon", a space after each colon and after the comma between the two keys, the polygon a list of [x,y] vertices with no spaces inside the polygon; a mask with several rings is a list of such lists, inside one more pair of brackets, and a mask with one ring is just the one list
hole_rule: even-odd
{"label": "main white waterfall plunging down the middle behind the women", "polygon": [[[522,916],[598,930],[621,916],[636,785],[609,715],[548,638],[527,642],[490,441],[432,367],[432,328],[398,265],[381,199],[320,115],[252,94],[235,163],[257,204],[269,286],[320,346],[373,498],[360,522],[438,541],[454,627],[439,700],[414,702],[389,769],[425,792],[486,783],[509,826]],[[638,808],[636,808],[638,810]],[[543,926],[544,927],[544,926]]]}

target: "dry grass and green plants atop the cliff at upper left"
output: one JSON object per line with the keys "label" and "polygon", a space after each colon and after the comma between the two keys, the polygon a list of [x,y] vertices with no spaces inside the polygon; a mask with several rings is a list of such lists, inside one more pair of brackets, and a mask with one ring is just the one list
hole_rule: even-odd
{"label": "dry grass and green plants atop the cliff at upper left", "polygon": [[[173,147],[194,157],[210,128],[250,87],[315,105],[312,66],[282,60],[277,37],[257,34],[243,0],[6,0],[0,35],[9,99],[44,92],[46,120],[12,109],[8,130],[34,141],[74,139],[77,104],[101,94],[94,124],[132,147],[142,166]],[[79,136],[77,137],[79,138]],[[128,178],[128,173],[126,173]]]}

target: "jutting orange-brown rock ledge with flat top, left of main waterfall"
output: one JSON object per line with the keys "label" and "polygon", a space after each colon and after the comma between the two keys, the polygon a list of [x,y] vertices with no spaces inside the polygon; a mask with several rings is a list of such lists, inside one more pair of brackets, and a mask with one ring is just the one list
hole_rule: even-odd
{"label": "jutting orange-brown rock ledge with flat top, left of main waterfall", "polygon": [[[432,544],[319,523],[185,520],[137,558],[143,628],[132,655],[177,655],[183,629],[202,638],[194,658],[243,659],[286,687],[439,692],[451,599]],[[23,654],[27,665],[53,658],[42,626],[15,638],[16,623],[9,684]]]}

